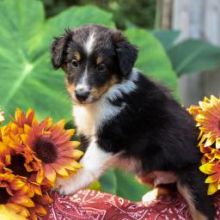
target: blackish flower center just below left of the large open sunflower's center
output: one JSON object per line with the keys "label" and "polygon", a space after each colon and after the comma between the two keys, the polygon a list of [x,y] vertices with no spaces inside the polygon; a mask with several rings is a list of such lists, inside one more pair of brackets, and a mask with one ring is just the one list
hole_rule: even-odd
{"label": "blackish flower center just below left of the large open sunflower's center", "polygon": [[11,164],[8,166],[15,175],[30,177],[31,173],[27,172],[25,166],[25,158],[20,154],[12,155]]}

